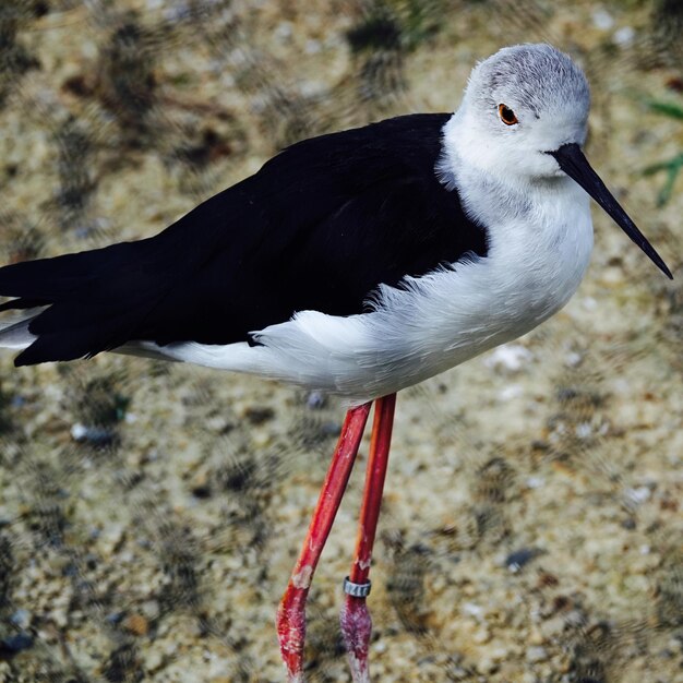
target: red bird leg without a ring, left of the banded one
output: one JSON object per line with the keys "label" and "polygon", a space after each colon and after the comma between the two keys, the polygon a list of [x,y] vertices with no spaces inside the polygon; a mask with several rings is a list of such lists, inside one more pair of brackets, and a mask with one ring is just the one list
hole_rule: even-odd
{"label": "red bird leg without a ring, left of the banded one", "polygon": [[277,636],[283,661],[291,683],[303,681],[303,640],[305,637],[305,599],[348,483],[358,447],[366,429],[371,404],[346,414],[325,482],[311,518],[299,560],[277,611]]}

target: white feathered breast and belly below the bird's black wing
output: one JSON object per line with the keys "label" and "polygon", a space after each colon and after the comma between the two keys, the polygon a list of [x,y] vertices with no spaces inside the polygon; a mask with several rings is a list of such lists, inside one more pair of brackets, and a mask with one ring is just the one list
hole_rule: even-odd
{"label": "white feathered breast and belly below the bird's black wing", "polygon": [[[490,190],[490,188],[489,188]],[[489,253],[383,286],[374,311],[339,317],[303,311],[256,336],[263,346],[173,344],[165,356],[251,372],[346,396],[351,403],[416,384],[518,337],[576,291],[592,248],[588,199],[567,179],[483,207]],[[504,207],[491,215],[491,206]],[[489,208],[487,208],[489,207]]]}

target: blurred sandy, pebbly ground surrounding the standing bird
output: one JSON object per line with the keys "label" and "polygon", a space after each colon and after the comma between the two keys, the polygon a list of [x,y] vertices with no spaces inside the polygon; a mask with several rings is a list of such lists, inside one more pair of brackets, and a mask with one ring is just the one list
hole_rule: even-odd
{"label": "blurred sandy, pebbly ground surrounding the standing bird", "polygon": [[[658,207],[664,178],[642,173],[683,147],[643,104],[682,104],[681,24],[635,1],[363,19],[378,4],[3,3],[2,261],[153,235],[302,135],[453,110],[502,45],[570,50],[588,156],[678,276],[596,209],[564,311],[399,396],[372,674],[683,681],[683,180]],[[394,33],[361,49],[378,16]],[[0,681],[281,681],[275,608],[343,406],[124,357],[0,363]],[[337,612],[363,466],[310,596],[310,681],[350,680]]]}

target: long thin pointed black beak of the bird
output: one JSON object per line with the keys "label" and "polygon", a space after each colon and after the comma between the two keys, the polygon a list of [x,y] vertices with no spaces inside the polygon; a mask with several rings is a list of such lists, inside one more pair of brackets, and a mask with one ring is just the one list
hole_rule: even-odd
{"label": "long thin pointed black beak of the bird", "polygon": [[669,271],[661,256],[645,239],[645,235],[638,230],[626,212],[604,187],[598,173],[590,168],[590,164],[588,164],[588,159],[584,156],[580,147],[576,143],[570,143],[548,154],[553,156],[560,164],[560,168],[604,208],[616,225],[651,259],[652,263],[667,277],[673,279],[671,271]]}

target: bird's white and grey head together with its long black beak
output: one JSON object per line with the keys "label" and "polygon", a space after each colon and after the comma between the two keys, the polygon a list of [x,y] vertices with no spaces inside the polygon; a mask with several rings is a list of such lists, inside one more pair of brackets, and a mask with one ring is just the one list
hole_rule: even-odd
{"label": "bird's white and grey head together with its long black beak", "polygon": [[589,108],[586,76],[567,55],[544,44],[506,47],[472,70],[444,130],[444,152],[455,165],[523,191],[568,176],[671,277],[582,152]]}

